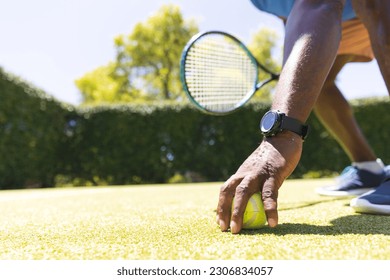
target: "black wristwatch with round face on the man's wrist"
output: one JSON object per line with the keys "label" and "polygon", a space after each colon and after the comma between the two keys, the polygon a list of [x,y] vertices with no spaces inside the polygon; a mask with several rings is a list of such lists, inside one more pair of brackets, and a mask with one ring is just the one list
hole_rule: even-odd
{"label": "black wristwatch with round face on the man's wrist", "polygon": [[295,132],[305,140],[309,126],[279,111],[268,111],[260,121],[260,130],[265,137],[275,136],[283,130]]}

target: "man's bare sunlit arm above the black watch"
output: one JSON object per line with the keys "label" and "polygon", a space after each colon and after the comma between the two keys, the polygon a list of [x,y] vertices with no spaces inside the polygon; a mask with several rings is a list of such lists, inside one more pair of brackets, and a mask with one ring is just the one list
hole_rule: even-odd
{"label": "man's bare sunlit arm above the black watch", "polygon": [[[309,3],[308,3],[309,2]],[[296,1],[286,24],[284,67],[273,109],[306,121],[336,57],[340,1]]]}

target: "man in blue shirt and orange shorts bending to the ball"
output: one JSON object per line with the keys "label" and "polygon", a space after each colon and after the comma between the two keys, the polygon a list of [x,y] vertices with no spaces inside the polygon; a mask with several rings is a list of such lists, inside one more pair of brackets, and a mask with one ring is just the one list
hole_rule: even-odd
{"label": "man in blue shirt and orange shorts bending to the ball", "polygon": [[[253,0],[252,2],[260,9],[280,17],[287,17],[283,70],[271,111],[262,119],[265,138],[221,188],[217,214],[221,230],[225,231],[229,226],[232,233],[241,230],[243,212],[248,199],[258,191],[262,191],[269,226],[277,225],[278,190],[300,159],[303,138],[307,132],[304,122],[313,108],[324,124],[337,136],[351,159],[360,163],[352,167],[353,172],[341,176],[338,185],[322,188],[319,192],[332,195],[351,194],[352,189],[357,190],[355,194],[358,194],[360,188],[362,189],[360,192],[363,192],[366,187],[378,186],[373,192],[354,199],[351,206],[359,212],[390,214],[390,181],[385,180],[383,163],[376,160],[375,154],[350,113],[349,105],[334,84],[334,77],[345,63],[370,57],[366,52],[340,52],[342,28],[346,30],[342,21],[351,20],[356,12],[368,30],[382,76],[387,88],[390,88],[390,20],[387,19],[390,1]],[[270,7],[275,5],[279,7],[272,10]],[[280,10],[283,10],[284,14],[279,13]],[[363,49],[367,51],[367,48]],[[331,107],[334,105],[331,104],[334,100],[330,96],[344,101],[333,109]],[[331,109],[330,113],[327,112],[329,109]],[[346,114],[343,114],[343,110]],[[324,111],[331,117],[324,114]],[[335,119],[340,120],[340,118],[342,122],[334,122]],[[283,124],[288,124],[282,129],[278,127],[280,119],[283,119]],[[353,125],[350,126],[348,123]],[[345,127],[352,127],[352,129],[344,131]],[[359,137],[356,139],[350,135]],[[359,149],[353,148],[355,141],[363,145],[364,152],[361,153]],[[370,182],[369,185],[366,181]],[[236,203],[232,211],[233,197]]]}

